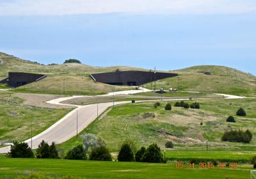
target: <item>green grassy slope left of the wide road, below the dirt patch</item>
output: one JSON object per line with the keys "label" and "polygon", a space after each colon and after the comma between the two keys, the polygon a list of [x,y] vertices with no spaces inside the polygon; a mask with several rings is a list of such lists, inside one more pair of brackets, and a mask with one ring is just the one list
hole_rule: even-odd
{"label": "green grassy slope left of the wide road, below the dirt patch", "polygon": [[70,109],[48,109],[24,105],[13,93],[0,92],[0,141],[10,143],[30,137],[31,119],[33,135],[39,134],[60,120]]}

